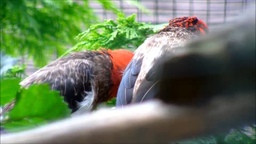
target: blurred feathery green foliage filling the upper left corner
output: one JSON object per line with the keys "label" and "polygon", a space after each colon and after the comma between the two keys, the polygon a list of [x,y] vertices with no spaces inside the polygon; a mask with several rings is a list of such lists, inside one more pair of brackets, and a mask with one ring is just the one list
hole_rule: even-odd
{"label": "blurred feathery green foliage filling the upper left corner", "polygon": [[[14,57],[28,54],[36,66],[44,66],[55,51],[62,55],[82,27],[98,22],[87,0],[0,2],[1,51]],[[111,1],[96,2],[119,12]]]}

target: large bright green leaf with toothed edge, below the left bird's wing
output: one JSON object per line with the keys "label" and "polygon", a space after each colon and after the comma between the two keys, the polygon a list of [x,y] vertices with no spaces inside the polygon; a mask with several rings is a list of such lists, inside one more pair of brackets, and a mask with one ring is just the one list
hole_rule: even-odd
{"label": "large bright green leaf with toothed edge, below the left bird's wing", "polygon": [[31,85],[22,89],[17,97],[10,118],[39,117],[43,119],[58,119],[70,115],[67,103],[60,97],[59,91],[51,91],[49,85]]}

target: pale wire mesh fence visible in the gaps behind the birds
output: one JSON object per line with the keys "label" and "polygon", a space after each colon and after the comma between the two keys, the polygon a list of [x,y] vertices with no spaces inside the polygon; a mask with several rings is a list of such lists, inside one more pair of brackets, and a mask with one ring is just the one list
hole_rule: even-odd
{"label": "pale wire mesh fence visible in the gaps behind the birds", "polygon": [[[78,0],[77,0],[78,1]],[[206,22],[210,31],[218,29],[222,23],[233,22],[232,18],[239,13],[242,13],[248,6],[254,5],[254,0],[133,0],[141,3],[149,13],[138,9],[131,4],[131,1],[112,1],[116,6],[125,13],[126,17],[136,13],[137,21],[150,22],[152,24],[167,23],[170,19],[183,16],[196,16],[197,18]],[[79,1],[78,1],[79,2]],[[113,12],[102,9],[99,3],[90,1],[91,7],[94,12],[104,19],[116,19],[116,15]],[[53,59],[57,59],[54,55]],[[37,69],[34,68],[33,61],[27,61],[26,58],[21,60],[21,63],[27,64],[26,74],[31,75]]]}

